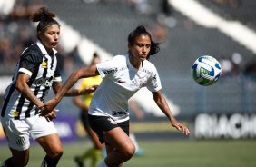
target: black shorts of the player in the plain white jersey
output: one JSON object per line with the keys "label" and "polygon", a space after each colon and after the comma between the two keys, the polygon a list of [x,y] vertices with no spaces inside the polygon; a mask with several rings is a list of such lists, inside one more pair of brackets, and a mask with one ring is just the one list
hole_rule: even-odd
{"label": "black shorts of the player in the plain white jersey", "polygon": [[101,143],[109,145],[109,143],[103,140],[104,133],[116,127],[120,127],[121,129],[123,129],[124,133],[129,136],[129,120],[123,123],[115,123],[111,117],[94,116],[90,114],[88,115],[88,118],[91,128],[94,130],[94,133],[97,134]]}

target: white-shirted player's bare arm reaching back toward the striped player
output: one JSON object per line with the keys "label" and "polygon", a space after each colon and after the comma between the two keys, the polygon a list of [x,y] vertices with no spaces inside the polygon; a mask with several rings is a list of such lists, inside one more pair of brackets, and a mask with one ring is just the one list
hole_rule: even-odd
{"label": "white-shirted player's bare arm reaching back toward the striped player", "polygon": [[91,65],[74,71],[74,73],[71,74],[63,84],[58,93],[56,93],[55,97],[52,100],[44,103],[42,106],[38,107],[41,109],[40,116],[44,116],[47,113],[53,111],[54,107],[62,100],[65,93],[67,93],[68,90],[70,90],[70,88],[74,85],[74,83],[76,83],[80,78],[87,78],[95,75],[99,75],[96,65]]}

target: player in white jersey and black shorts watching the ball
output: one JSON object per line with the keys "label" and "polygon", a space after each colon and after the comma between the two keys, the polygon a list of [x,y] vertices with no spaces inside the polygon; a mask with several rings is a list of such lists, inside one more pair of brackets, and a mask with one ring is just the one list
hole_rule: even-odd
{"label": "player in white jersey and black shorts watching the ball", "polygon": [[157,70],[147,59],[159,51],[158,44],[152,41],[143,26],[138,26],[128,36],[129,54],[116,55],[112,60],[91,65],[75,71],[64,83],[54,99],[40,108],[42,115],[54,110],[66,93],[79,78],[100,74],[103,78],[94,93],[89,110],[89,123],[99,140],[105,142],[107,156],[98,167],[122,166],[135,152],[133,142],[128,136],[128,100],[134,93],[146,86],[152,93],[155,103],[169,118],[173,127],[186,135],[189,130],[178,123],[161,93],[161,82]]}

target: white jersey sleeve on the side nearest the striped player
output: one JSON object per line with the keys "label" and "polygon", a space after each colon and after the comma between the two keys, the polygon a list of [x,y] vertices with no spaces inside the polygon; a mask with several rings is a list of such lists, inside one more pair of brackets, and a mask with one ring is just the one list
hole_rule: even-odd
{"label": "white jersey sleeve on the side nearest the striped player", "polygon": [[101,74],[102,78],[109,77],[117,72],[117,61],[116,58],[113,57],[111,60],[107,60],[103,63],[96,64],[97,70],[99,74]]}

